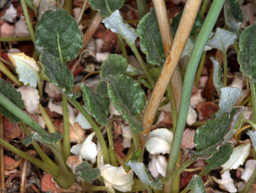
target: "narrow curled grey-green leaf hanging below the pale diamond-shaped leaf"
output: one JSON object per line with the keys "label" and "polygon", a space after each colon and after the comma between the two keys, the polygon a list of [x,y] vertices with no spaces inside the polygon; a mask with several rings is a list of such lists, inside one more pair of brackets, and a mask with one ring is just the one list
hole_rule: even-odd
{"label": "narrow curled grey-green leaf hanging below the pale diamond-shaped leaf", "polygon": [[220,96],[220,88],[224,87],[221,79],[223,74],[222,68],[221,65],[219,65],[219,61],[215,57],[211,56],[210,59],[213,62],[213,85]]}

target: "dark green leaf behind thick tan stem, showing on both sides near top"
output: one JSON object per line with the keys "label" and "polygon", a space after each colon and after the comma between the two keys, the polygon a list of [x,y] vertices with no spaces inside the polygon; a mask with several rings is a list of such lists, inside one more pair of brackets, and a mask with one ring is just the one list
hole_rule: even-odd
{"label": "dark green leaf behind thick tan stem, showing on both sides near top", "polygon": [[[176,33],[179,22],[181,20],[181,15],[183,13],[183,10],[184,10],[184,8],[180,11],[180,13],[175,18],[172,19],[172,25],[171,25],[172,33]],[[202,27],[202,25],[203,25],[202,17],[198,13],[197,16],[196,16],[195,23],[194,23],[194,25],[192,27],[192,30],[190,32],[190,36],[196,35],[196,29],[199,28],[199,27]]]}

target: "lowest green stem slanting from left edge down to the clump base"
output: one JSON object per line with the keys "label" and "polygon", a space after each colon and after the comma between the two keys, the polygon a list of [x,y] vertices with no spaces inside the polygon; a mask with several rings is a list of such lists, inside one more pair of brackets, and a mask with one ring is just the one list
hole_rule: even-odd
{"label": "lowest green stem slanting from left edge down to the clump base", "polygon": [[[38,160],[37,158],[33,157],[32,155],[29,155],[18,148],[14,147],[10,143],[7,143],[3,139],[0,138],[0,144],[5,146],[7,149],[12,151],[14,154],[19,155],[20,157],[24,158],[25,160],[28,160],[29,162],[33,163],[34,165],[38,166],[40,169],[45,171],[46,173],[51,174],[53,177],[55,176],[47,167],[46,163],[43,161]],[[55,176],[56,177],[56,176]]]}

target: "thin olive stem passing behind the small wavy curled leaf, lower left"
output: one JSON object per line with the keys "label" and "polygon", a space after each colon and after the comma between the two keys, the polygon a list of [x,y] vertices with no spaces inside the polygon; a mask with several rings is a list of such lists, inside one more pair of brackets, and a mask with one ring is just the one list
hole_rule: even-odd
{"label": "thin olive stem passing behind the small wavy curled leaf, lower left", "polygon": [[[30,134],[30,131],[28,130],[24,122],[21,121],[19,124],[27,135]],[[39,156],[42,158],[43,162],[49,166],[52,173],[54,173],[55,176],[59,176],[60,167],[46,155],[46,153],[42,150],[42,148],[38,145],[38,143],[35,140],[32,142],[32,145],[34,146]]]}

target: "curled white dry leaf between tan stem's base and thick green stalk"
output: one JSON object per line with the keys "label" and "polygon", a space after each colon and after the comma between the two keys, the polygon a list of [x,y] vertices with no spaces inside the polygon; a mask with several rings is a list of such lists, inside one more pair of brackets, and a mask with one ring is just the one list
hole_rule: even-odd
{"label": "curled white dry leaf between tan stem's base and thick green stalk", "polygon": [[166,128],[154,129],[149,133],[146,149],[150,154],[169,154],[173,133]]}

